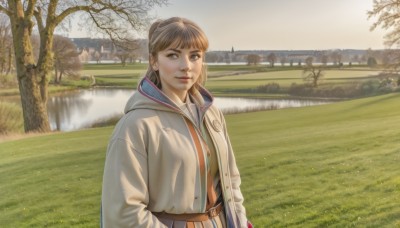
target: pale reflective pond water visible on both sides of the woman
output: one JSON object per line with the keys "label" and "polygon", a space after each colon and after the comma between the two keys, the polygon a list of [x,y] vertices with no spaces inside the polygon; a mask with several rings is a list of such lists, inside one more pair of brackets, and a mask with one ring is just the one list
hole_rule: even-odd
{"label": "pale reflective pond water visible on both sides of the woman", "polygon": [[[48,101],[52,130],[71,131],[93,125],[100,120],[122,115],[134,90],[91,89],[59,94]],[[307,100],[267,100],[218,97],[215,104],[224,113],[260,109],[280,109],[319,105],[326,102]]]}

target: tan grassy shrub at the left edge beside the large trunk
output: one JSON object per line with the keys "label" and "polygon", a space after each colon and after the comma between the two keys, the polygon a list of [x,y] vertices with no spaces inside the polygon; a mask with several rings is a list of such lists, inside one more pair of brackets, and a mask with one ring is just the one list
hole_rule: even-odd
{"label": "tan grassy shrub at the left edge beside the large trunk", "polygon": [[0,135],[23,132],[23,126],[21,107],[0,101]]}

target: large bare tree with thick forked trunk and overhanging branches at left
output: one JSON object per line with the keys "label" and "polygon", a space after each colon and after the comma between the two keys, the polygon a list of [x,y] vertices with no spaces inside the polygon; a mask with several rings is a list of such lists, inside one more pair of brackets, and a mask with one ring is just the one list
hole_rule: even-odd
{"label": "large bare tree with thick forked trunk and overhanging branches at left", "polygon": [[[0,0],[0,13],[10,19],[26,132],[50,131],[46,103],[53,69],[53,34],[76,13],[85,25],[98,28],[111,40],[127,40],[148,24],[148,12],[167,0]],[[39,57],[35,60],[30,37],[37,29]]]}

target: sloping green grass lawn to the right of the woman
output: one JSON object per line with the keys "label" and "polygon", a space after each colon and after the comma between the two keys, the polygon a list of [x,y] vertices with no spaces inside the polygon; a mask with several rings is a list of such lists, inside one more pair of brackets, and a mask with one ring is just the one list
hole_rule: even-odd
{"label": "sloping green grass lawn to the right of the woman", "polygon": [[399,98],[229,116],[254,222],[400,226]]}

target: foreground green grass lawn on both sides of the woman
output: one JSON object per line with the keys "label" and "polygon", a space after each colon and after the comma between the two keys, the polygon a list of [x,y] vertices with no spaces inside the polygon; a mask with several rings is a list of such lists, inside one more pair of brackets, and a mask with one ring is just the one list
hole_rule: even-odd
{"label": "foreground green grass lawn on both sides of the woman", "polygon": [[[399,227],[400,94],[226,116],[256,227]],[[0,227],[98,227],[112,128],[0,143]]]}

